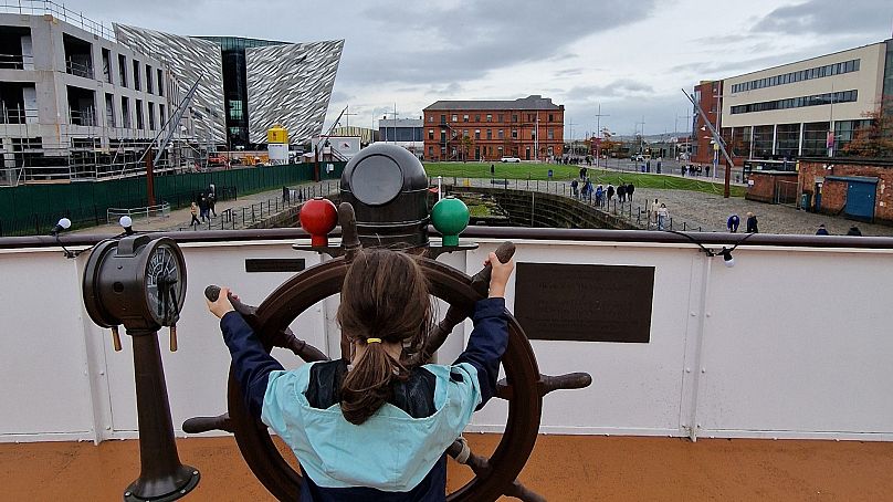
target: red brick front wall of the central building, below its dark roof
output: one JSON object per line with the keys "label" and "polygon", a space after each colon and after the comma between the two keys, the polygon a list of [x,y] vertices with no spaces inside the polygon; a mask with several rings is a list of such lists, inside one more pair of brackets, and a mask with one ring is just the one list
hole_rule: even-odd
{"label": "red brick front wall of the central building, below its dark roof", "polygon": [[[441,124],[440,116],[446,116],[445,126]],[[456,122],[452,116],[456,115]],[[464,122],[464,116],[469,116],[469,122]],[[491,115],[491,122],[486,122],[486,116]],[[503,121],[500,122],[500,115]],[[512,122],[512,116],[517,116],[517,122]],[[536,117],[539,116],[538,142],[533,139],[533,134],[537,130]],[[549,121],[551,115],[551,121]],[[480,121],[476,118],[480,116]],[[469,159],[474,159],[475,148],[481,148],[481,155],[487,161],[498,160],[500,155],[514,155],[522,159],[526,158],[527,148],[530,149],[530,159],[538,157],[543,160],[548,155],[548,147],[553,148],[553,155],[560,156],[564,150],[565,111],[560,109],[434,109],[426,108],[423,115],[424,126],[422,137],[424,138],[424,157],[432,160],[448,160],[452,155],[453,147],[461,150],[461,139],[463,132],[469,132],[472,146],[469,148]],[[446,130],[446,153],[441,157],[440,142],[441,129]],[[487,129],[491,130],[491,139],[486,138]],[[503,129],[504,138],[498,138],[498,130]],[[517,138],[512,137],[512,130],[517,130]],[[548,132],[551,129],[553,138],[549,139]],[[433,130],[433,139],[429,138],[429,132]],[[481,138],[475,138],[475,130],[481,130]],[[458,135],[453,138],[453,132]],[[539,155],[536,155],[535,146],[539,146]],[[498,147],[503,147],[500,154]],[[433,156],[429,150],[433,149]]]}

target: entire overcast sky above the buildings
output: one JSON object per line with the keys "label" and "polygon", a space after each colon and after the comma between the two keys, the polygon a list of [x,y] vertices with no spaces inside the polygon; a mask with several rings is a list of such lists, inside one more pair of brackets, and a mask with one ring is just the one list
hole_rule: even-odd
{"label": "entire overcast sky above the buildings", "polygon": [[[290,42],[344,39],[326,127],[384,113],[419,117],[438,100],[542,94],[567,111],[566,135],[677,130],[680,88],[879,42],[890,0],[69,0],[94,20],[177,34]],[[344,123],[344,119],[342,121]],[[642,125],[641,123],[644,123]]]}

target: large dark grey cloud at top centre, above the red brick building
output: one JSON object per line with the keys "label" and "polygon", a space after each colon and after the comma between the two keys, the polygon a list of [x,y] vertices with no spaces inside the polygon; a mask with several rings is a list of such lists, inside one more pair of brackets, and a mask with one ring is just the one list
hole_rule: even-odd
{"label": "large dark grey cloud at top centre, above the red brick building", "polygon": [[[364,17],[381,31],[401,19],[424,27],[419,38],[399,43],[370,41],[380,50],[357,64],[357,74],[369,82],[439,82],[473,80],[488,71],[528,61],[563,61],[565,48],[596,32],[616,29],[648,17],[654,1],[586,2],[563,7],[542,1],[462,2],[432,8],[422,2],[378,2]],[[554,23],[544,23],[544,15]],[[346,61],[347,62],[347,61]],[[345,66],[347,66],[345,64]]]}

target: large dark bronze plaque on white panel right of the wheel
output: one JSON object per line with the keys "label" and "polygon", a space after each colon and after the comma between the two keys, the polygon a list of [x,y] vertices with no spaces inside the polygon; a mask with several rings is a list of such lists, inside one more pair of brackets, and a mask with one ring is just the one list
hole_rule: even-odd
{"label": "large dark bronze plaque on white panel right of the wheel", "polygon": [[654,268],[518,263],[515,317],[530,339],[651,339]]}

